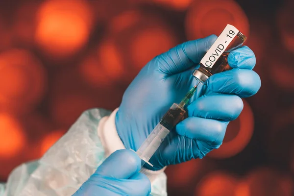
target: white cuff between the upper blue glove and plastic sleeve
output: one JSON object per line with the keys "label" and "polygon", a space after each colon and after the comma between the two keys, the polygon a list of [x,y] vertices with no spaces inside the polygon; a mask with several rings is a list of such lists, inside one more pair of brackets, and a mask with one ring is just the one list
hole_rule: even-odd
{"label": "white cuff between the upper blue glove and plastic sleeve", "polygon": [[[116,150],[125,149],[115,126],[115,116],[118,110],[118,108],[115,109],[109,117],[103,117],[98,125],[98,136],[104,147],[106,157],[108,157]],[[152,183],[155,180],[155,178],[165,169],[166,167],[158,171],[152,171],[147,170],[146,168],[142,168],[140,172],[147,175],[147,177]]]}

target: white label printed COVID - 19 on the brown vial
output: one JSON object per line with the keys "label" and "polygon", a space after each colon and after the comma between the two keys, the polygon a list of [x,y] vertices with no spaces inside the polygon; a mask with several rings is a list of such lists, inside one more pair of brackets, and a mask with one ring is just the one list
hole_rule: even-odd
{"label": "white label printed COVID - 19 on the brown vial", "polygon": [[200,63],[205,67],[211,68],[221,57],[221,54],[225,51],[228,45],[239,33],[239,30],[233,25],[226,25],[226,27],[221,32],[221,35],[212,45],[212,47],[207,51],[204,57],[201,59]]}

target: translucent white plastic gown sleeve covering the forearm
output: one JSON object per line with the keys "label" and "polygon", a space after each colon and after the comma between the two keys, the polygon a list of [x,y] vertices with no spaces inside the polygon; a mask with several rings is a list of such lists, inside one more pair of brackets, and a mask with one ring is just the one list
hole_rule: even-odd
{"label": "translucent white plastic gown sleeve covering the forearm", "polygon": [[[110,113],[103,109],[85,111],[40,160],[13,170],[6,185],[0,184],[0,196],[72,196],[116,148],[117,144],[107,142],[104,129],[110,125]],[[152,179],[151,195],[167,196],[165,173],[146,172]]]}

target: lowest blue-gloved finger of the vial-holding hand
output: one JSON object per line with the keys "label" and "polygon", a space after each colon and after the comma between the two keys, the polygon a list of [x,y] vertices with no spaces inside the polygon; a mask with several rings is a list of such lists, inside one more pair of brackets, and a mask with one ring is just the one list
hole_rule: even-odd
{"label": "lowest blue-gloved finger of the vial-holding hand", "polygon": [[189,117],[175,127],[179,135],[212,145],[221,145],[228,122]]}

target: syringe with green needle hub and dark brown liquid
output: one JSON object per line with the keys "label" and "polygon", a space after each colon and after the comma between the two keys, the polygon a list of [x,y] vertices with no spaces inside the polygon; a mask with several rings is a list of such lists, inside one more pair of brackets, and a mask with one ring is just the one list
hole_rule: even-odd
{"label": "syringe with green needle hub and dark brown liquid", "polygon": [[170,107],[169,111],[162,117],[160,122],[155,126],[153,131],[150,133],[150,135],[147,137],[141,147],[137,150],[136,153],[143,160],[142,167],[145,163],[153,167],[153,165],[149,163],[149,159],[155,153],[155,151],[158,149],[164,139],[169,135],[170,131],[175,127],[175,125],[184,119],[184,115],[186,113],[184,107],[196,92],[196,88],[199,83],[200,82],[198,82],[186,94],[186,96],[179,104],[172,104],[172,107]]}

